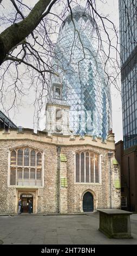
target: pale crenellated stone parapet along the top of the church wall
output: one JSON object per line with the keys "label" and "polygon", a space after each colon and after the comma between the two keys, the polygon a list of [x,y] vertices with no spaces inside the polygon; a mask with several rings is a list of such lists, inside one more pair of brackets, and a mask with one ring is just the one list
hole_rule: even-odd
{"label": "pale crenellated stone parapet along the top of the church wall", "polygon": [[5,140],[35,141],[50,145],[61,145],[62,147],[92,146],[107,150],[115,150],[114,139],[109,138],[106,139],[106,141],[102,141],[102,138],[95,139],[90,135],[85,135],[84,137],[81,137],[80,135],[54,135],[45,131],[37,131],[37,133],[34,133],[34,130],[29,128],[23,128],[22,132],[19,132],[18,129],[10,129],[8,132],[0,129],[0,141]]}

